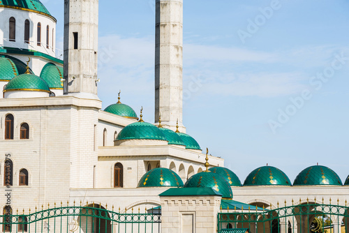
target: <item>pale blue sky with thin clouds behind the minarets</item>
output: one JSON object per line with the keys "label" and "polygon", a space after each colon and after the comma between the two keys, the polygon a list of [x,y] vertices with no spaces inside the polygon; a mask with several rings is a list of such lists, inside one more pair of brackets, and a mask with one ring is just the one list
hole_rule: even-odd
{"label": "pale blue sky with thin clouds behind the minarets", "polygon": [[[344,182],[349,174],[349,2],[277,2],[184,0],[184,125],[202,149],[225,158],[242,182],[267,163],[291,181],[319,163]],[[57,17],[57,45],[63,47],[63,1],[43,3]],[[271,6],[274,10],[262,16],[260,8]],[[121,89],[121,101],[136,112],[142,105],[151,123],[154,21],[154,0],[100,1],[103,107],[116,102]],[[328,78],[320,81],[318,73]],[[296,109],[290,98],[299,99],[303,91],[306,100]],[[279,111],[286,110],[288,119],[275,124]]]}

